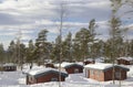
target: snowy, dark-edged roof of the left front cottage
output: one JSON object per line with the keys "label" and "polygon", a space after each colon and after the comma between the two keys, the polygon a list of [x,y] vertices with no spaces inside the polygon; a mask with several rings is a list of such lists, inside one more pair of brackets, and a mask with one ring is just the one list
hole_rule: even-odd
{"label": "snowy, dark-edged roof of the left front cottage", "polygon": [[[29,70],[28,75],[34,76],[37,78],[42,75],[48,75],[50,73],[59,74],[59,70],[54,69],[54,68],[37,68],[37,69]],[[61,75],[63,75],[64,77],[68,76],[68,74],[65,72],[61,72]]]}

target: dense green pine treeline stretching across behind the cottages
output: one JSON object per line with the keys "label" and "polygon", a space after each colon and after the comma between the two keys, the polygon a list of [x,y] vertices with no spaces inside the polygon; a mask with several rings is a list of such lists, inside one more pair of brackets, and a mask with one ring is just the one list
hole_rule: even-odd
{"label": "dense green pine treeline stretching across behind the cottages", "polygon": [[[91,20],[89,28],[82,28],[75,33],[72,39],[72,33],[69,32],[66,37],[62,41],[61,36],[57,36],[55,42],[49,42],[47,40],[47,30],[40,31],[35,43],[32,40],[29,41],[28,47],[20,43],[11,41],[7,51],[3,50],[3,45],[0,44],[0,62],[11,63],[44,63],[45,59],[52,59],[53,62],[61,61],[73,62],[83,61],[85,58],[105,57],[111,59],[111,55],[115,52],[115,57],[131,56],[133,57],[133,40],[125,41],[122,36],[117,35],[115,39],[110,37],[108,41],[95,39],[96,33],[95,20]],[[60,55],[61,54],[61,55]]]}

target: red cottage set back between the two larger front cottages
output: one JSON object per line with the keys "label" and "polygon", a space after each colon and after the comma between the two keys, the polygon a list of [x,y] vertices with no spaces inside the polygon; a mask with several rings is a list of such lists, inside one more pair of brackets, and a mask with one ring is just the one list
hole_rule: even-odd
{"label": "red cottage set back between the two larger front cottages", "polygon": [[[59,64],[55,65],[59,68]],[[83,65],[78,63],[62,63],[61,69],[65,70],[68,74],[83,73]]]}

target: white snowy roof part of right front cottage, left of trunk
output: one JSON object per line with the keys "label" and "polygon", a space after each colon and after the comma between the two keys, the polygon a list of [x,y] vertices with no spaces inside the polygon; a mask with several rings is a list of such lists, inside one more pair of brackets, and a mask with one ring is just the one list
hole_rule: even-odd
{"label": "white snowy roof part of right front cottage, left of trunk", "polygon": [[94,68],[94,69],[101,69],[102,70],[102,69],[110,68],[112,66],[113,66],[112,64],[96,63],[96,64],[88,64],[84,67],[85,68]]}

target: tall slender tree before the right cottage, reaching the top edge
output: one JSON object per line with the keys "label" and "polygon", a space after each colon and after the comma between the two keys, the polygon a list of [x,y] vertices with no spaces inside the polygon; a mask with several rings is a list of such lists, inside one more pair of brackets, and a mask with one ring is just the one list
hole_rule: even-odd
{"label": "tall slender tree before the right cottage, reaching the top edge", "polygon": [[112,8],[112,15],[111,19],[109,21],[110,23],[110,40],[111,40],[111,50],[110,50],[110,54],[111,54],[111,61],[113,64],[113,73],[112,73],[112,79],[113,79],[113,84],[115,84],[114,79],[115,79],[115,70],[114,70],[114,62],[117,57],[117,51],[119,51],[119,39],[122,37],[122,28],[121,28],[121,20],[120,17],[117,17],[117,12],[121,9],[122,4],[121,4],[121,0],[111,0],[111,8]]}

